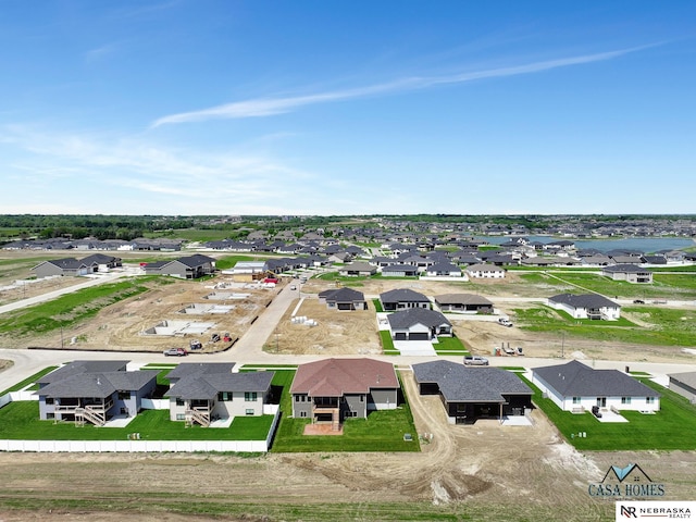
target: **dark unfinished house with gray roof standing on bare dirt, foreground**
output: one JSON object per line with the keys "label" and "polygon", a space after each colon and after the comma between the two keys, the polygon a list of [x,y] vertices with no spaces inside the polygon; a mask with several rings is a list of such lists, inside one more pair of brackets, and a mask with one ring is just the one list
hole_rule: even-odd
{"label": "dark unfinished house with gray roof standing on bare dirt, foreground", "polygon": [[421,395],[439,395],[450,424],[477,419],[524,415],[534,391],[513,372],[499,368],[470,368],[450,361],[413,364]]}

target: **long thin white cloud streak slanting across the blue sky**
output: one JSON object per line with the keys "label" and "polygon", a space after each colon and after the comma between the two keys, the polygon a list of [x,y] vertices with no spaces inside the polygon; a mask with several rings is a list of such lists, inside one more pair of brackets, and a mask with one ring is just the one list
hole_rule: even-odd
{"label": "long thin white cloud streak slanting across the blue sky", "polygon": [[518,76],[522,74],[540,73],[559,67],[568,67],[572,65],[612,60],[624,54],[645,49],[646,47],[647,46],[634,47],[630,49],[620,49],[616,51],[600,52],[595,54],[561,58],[557,60],[547,60],[508,67],[465,72],[446,76],[413,76],[384,84],[331,92],[319,92],[296,97],[257,98],[233,103],[225,103],[199,111],[170,114],[152,122],[151,127],[175,123],[202,122],[207,120],[271,116],[275,114],[287,113],[303,105],[311,105],[316,103],[328,103],[332,101],[344,101],[368,96],[425,89],[428,87],[445,84],[463,84],[478,79],[501,78],[507,76]]}

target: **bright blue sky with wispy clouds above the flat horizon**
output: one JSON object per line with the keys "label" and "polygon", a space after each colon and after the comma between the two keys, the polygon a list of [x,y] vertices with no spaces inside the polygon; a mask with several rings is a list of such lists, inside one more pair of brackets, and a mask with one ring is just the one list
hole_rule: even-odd
{"label": "bright blue sky with wispy clouds above the flat horizon", "polygon": [[694,213],[696,2],[0,0],[0,213]]}

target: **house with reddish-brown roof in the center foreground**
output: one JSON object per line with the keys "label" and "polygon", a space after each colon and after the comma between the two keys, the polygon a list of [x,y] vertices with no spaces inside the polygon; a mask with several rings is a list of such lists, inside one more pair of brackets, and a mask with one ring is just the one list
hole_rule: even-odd
{"label": "house with reddish-brown roof in the center foreground", "polygon": [[399,381],[394,365],[373,359],[324,359],[300,364],[290,386],[293,417],[330,422],[396,409]]}

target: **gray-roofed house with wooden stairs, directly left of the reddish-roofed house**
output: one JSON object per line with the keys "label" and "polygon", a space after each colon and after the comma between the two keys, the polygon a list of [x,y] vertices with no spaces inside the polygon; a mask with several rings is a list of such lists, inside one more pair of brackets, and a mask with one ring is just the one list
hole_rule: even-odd
{"label": "gray-roofed house with wooden stairs, directly left of the reddish-roofed house", "polygon": [[210,426],[215,419],[262,415],[274,372],[233,373],[234,363],[182,363],[167,374],[170,420]]}

